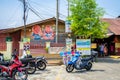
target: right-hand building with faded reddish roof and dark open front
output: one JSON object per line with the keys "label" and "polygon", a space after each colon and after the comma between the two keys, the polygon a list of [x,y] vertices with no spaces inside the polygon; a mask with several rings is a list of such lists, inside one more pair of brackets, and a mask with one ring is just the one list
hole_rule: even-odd
{"label": "right-hand building with faded reddish roof and dark open front", "polygon": [[108,54],[120,55],[120,18],[104,18],[102,20],[109,23],[108,38],[103,39],[108,44]]}

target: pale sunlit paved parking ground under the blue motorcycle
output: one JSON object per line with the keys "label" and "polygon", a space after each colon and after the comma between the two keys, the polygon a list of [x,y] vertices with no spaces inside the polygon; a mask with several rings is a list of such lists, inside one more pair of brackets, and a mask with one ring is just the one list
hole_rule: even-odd
{"label": "pale sunlit paved parking ground under the blue motorcycle", "polygon": [[36,71],[28,80],[120,80],[120,59],[99,58],[90,71],[74,70],[67,73],[64,65],[47,66]]}

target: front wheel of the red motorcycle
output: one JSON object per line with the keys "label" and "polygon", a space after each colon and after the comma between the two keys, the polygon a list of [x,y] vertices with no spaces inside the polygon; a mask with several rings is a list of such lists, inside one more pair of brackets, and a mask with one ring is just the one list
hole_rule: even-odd
{"label": "front wheel of the red motorcycle", "polygon": [[27,80],[28,74],[26,70],[18,71],[14,70],[12,73],[13,80]]}

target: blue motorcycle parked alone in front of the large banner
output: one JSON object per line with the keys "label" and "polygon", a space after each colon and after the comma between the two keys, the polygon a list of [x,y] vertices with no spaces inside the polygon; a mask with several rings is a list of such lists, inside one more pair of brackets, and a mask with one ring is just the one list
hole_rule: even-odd
{"label": "blue motorcycle parked alone in front of the large banner", "polygon": [[89,71],[92,68],[92,60],[93,57],[81,58],[80,53],[76,53],[72,59],[68,61],[66,71],[70,73],[74,68],[77,70],[86,69]]}

